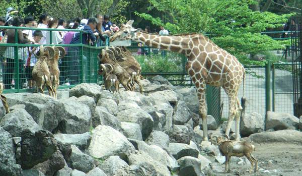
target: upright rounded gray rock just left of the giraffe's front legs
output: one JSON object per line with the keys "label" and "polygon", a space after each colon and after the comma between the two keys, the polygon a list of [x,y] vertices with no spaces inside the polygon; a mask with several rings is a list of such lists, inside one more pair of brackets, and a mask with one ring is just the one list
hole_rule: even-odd
{"label": "upright rounded gray rock just left of the giraffe's front legs", "polygon": [[191,119],[189,108],[184,101],[178,101],[174,106],[173,125],[185,125]]}

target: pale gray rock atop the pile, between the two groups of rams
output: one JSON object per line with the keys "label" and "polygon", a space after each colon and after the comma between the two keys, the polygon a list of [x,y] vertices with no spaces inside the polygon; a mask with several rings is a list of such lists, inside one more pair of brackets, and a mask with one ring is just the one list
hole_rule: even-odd
{"label": "pale gray rock atop the pile, between the two groups of rams", "polygon": [[101,96],[102,87],[97,84],[81,83],[69,91],[69,96],[81,97],[83,95],[93,97],[98,102]]}

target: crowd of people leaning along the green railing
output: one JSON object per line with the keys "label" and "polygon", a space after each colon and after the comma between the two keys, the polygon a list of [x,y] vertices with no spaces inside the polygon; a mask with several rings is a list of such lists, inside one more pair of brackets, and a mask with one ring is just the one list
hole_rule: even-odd
{"label": "crowd of people leaning along the green railing", "polygon": [[[83,44],[93,44],[101,46],[106,43],[106,37],[110,37],[113,32],[118,31],[118,26],[110,22],[109,16],[96,15],[94,18],[84,19],[77,18],[66,21],[64,18],[54,18],[48,14],[42,14],[38,23],[33,16],[26,16],[24,19],[18,16],[18,11],[13,8],[7,9],[6,17],[0,17],[0,26],[15,26],[27,28],[40,28],[41,30],[18,29],[17,43],[21,44],[80,44],[82,38]],[[48,31],[43,29],[79,29],[86,32],[75,31]],[[50,35],[51,32],[51,35]],[[15,42],[15,29],[1,29],[0,40],[7,35],[7,43]],[[50,38],[51,36],[51,38]],[[107,39],[108,42],[108,39]],[[11,89],[14,84],[14,62],[16,56],[15,47],[8,46],[1,53],[1,63],[3,72],[3,82],[5,89]],[[35,53],[39,51],[37,45],[31,47],[19,47],[19,89],[35,87],[35,83],[31,77],[31,71],[37,62]],[[65,47],[65,57],[59,61],[60,84],[79,84],[80,81],[80,47]],[[15,71],[16,72],[16,71]]]}

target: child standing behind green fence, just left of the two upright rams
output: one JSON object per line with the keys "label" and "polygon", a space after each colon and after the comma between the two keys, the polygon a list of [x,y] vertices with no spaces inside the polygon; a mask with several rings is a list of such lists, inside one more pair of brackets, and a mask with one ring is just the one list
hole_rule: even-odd
{"label": "child standing behind green fence, just left of the two upright rams", "polygon": [[[41,44],[39,43],[39,41],[41,40],[41,38],[43,37],[43,34],[41,31],[37,30],[33,33],[33,37],[35,40],[35,43],[31,42],[31,44]],[[37,53],[40,50],[40,47],[35,47],[35,46],[31,46],[28,47],[28,58],[26,61],[26,67],[25,67],[25,72],[26,72],[26,78],[28,79],[28,86],[29,88],[34,88],[36,86],[35,81],[32,78],[32,71],[33,68],[37,62],[37,57],[35,56],[34,53]]]}

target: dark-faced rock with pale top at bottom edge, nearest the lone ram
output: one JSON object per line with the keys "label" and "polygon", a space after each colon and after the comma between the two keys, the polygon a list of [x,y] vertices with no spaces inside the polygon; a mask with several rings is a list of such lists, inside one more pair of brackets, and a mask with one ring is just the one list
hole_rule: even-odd
{"label": "dark-faced rock with pale top at bottom edge, nearest the lone ram", "polygon": [[191,156],[184,156],[177,160],[180,166],[178,175],[187,176],[187,175],[202,175],[200,166],[201,161],[197,158]]}

